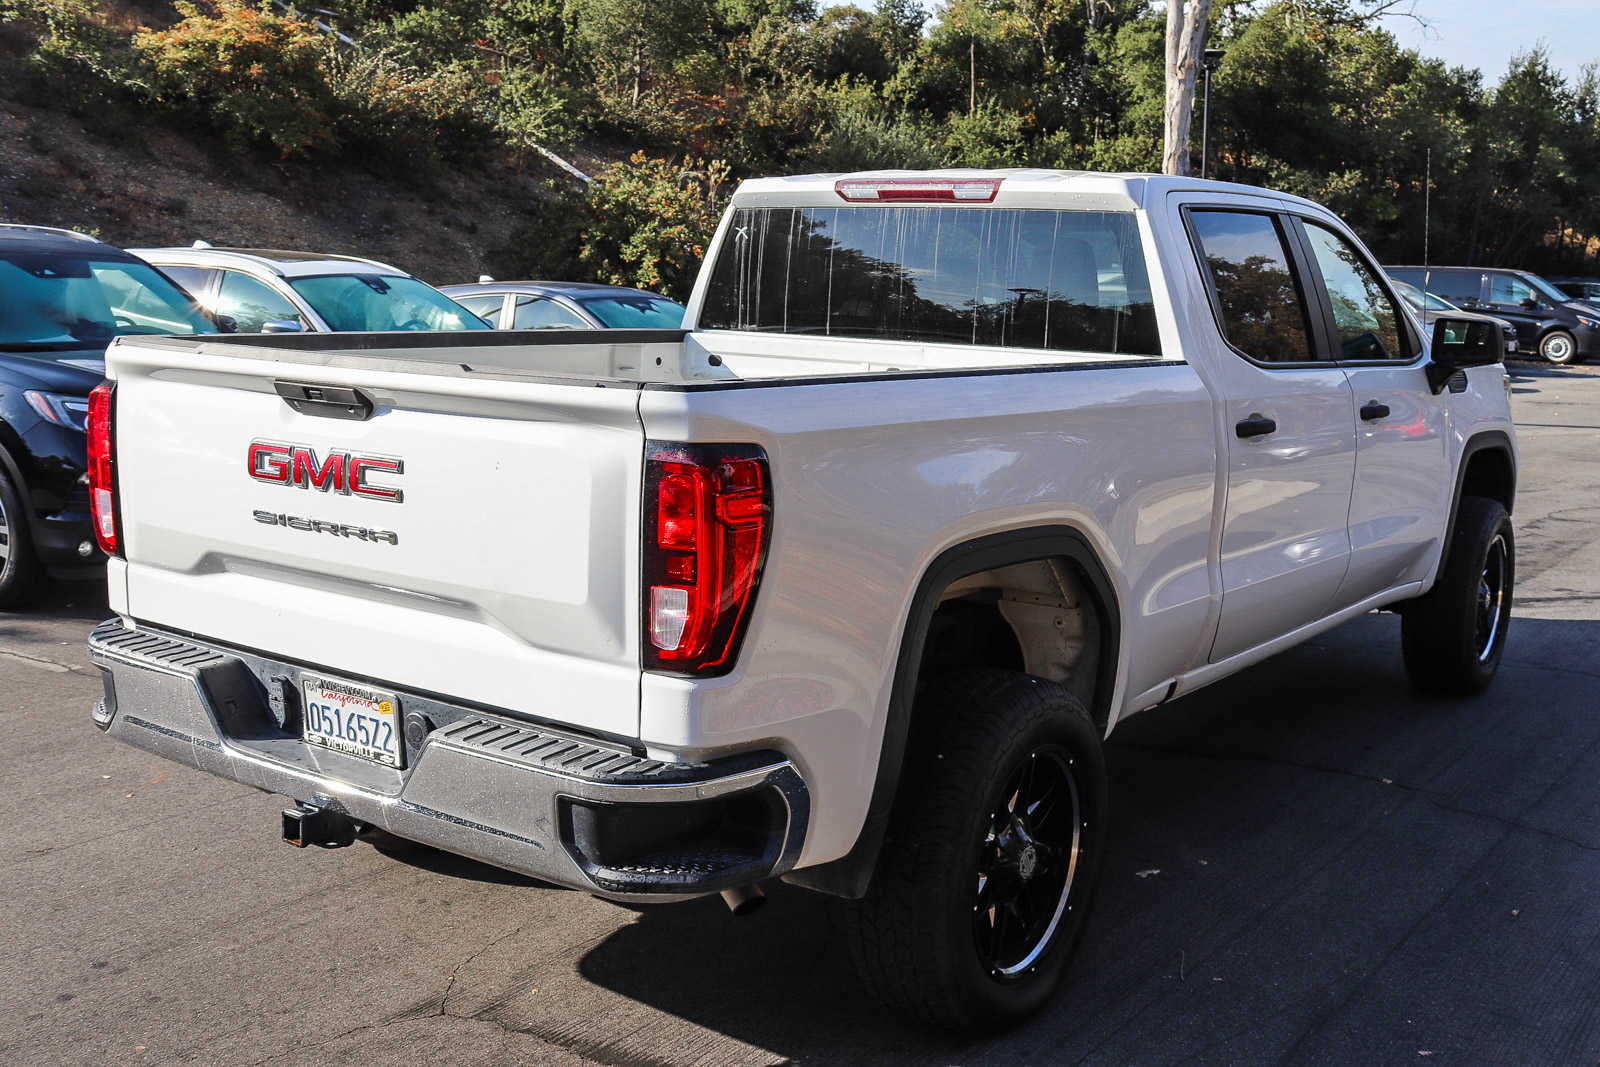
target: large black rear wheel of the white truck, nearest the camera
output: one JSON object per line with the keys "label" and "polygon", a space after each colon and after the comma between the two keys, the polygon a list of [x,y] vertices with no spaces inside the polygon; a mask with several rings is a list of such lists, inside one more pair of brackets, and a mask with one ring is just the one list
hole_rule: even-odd
{"label": "large black rear wheel of the white truck, nearest the camera", "polygon": [[862,979],[955,1030],[1054,992],[1099,878],[1101,731],[1066,688],[1005,670],[934,678],[872,886],[845,905]]}

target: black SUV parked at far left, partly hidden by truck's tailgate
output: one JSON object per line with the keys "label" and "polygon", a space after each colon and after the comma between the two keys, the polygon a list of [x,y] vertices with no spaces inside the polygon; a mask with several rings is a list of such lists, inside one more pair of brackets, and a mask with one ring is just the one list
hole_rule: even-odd
{"label": "black SUV parked at far left, partly hidden by truck's tailgate", "polygon": [[102,558],[83,421],[110,339],[216,331],[142,259],[72,230],[0,222],[0,609],[46,569]]}

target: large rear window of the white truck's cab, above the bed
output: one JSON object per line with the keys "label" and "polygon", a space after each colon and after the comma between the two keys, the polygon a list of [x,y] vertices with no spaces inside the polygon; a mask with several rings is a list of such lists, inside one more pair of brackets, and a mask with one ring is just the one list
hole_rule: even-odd
{"label": "large rear window of the white truck's cab, above the bed", "polygon": [[1162,354],[1126,211],[741,208],[699,326]]}

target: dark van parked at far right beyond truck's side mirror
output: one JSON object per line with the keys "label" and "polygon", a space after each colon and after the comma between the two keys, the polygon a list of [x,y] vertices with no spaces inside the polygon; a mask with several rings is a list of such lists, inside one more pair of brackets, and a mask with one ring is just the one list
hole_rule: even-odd
{"label": "dark van parked at far right beyond truck's side mirror", "polygon": [[1504,318],[1517,326],[1522,352],[1538,352],[1550,363],[1582,363],[1600,354],[1600,310],[1526,270],[1498,267],[1384,267],[1456,307]]}

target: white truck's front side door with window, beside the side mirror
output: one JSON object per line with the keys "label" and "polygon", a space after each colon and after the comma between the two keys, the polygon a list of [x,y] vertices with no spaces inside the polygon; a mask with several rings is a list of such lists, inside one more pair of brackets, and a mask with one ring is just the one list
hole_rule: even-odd
{"label": "white truck's front side door with window, beside the side mirror", "polygon": [[1454,488],[1445,445],[1450,394],[1429,389],[1421,339],[1382,272],[1333,226],[1299,218],[1293,226],[1309,251],[1322,328],[1355,402],[1350,568],[1336,605],[1344,608],[1421,581],[1438,558]]}

